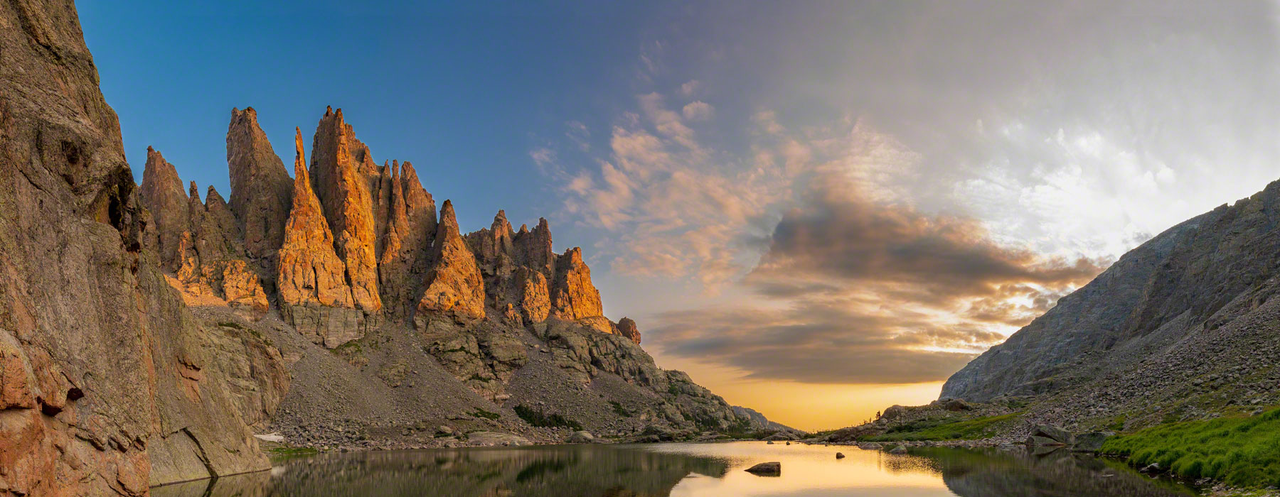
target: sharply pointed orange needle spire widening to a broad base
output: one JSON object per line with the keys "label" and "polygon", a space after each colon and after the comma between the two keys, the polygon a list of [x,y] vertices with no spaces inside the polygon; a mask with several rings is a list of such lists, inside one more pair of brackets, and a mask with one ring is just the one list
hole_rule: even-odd
{"label": "sharply pointed orange needle spire widening to a broad base", "polygon": [[312,341],[335,348],[364,335],[356,300],[347,286],[347,267],[334,252],[333,233],[320,199],[311,190],[302,152],[302,132],[296,130],[293,206],[284,227],[279,254],[280,310]]}

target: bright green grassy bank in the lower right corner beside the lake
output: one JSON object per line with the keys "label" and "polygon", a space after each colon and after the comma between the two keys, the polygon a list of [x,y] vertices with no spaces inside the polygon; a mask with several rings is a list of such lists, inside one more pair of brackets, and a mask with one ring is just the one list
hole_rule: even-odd
{"label": "bright green grassy bank in the lower right corner beside the lake", "polygon": [[1161,468],[1184,478],[1213,478],[1234,487],[1280,486],[1280,409],[1244,418],[1169,423],[1119,436],[1103,454]]}

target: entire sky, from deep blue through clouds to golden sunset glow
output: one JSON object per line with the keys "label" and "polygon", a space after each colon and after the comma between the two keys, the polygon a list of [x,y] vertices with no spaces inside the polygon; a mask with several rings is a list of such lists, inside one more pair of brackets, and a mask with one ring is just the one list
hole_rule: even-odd
{"label": "entire sky, from deep blue through clouds to golden sunset glow", "polygon": [[356,4],[79,3],[137,179],[154,146],[225,197],[233,107],[285,152],[342,107],[463,231],[547,217],[660,367],[804,429],[928,402],[1280,178],[1271,3]]}

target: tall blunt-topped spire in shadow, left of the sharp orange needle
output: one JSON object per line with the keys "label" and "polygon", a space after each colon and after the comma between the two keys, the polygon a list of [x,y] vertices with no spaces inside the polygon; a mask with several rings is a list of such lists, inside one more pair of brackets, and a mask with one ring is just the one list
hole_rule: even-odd
{"label": "tall blunt-topped spire in shadow, left of the sharp orange needle", "polygon": [[293,181],[259,126],[253,107],[232,109],[232,121],[227,126],[227,170],[232,180],[229,206],[244,234],[244,250],[257,272],[268,281],[274,280]]}

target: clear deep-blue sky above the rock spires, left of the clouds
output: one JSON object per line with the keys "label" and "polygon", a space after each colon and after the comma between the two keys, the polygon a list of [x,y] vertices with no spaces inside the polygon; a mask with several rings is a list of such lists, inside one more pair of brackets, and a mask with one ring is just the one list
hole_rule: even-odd
{"label": "clear deep-blue sky above the rock spires, left of the clouds", "polygon": [[82,3],[131,164],[154,146],[184,180],[225,195],[232,107],[257,109],[279,148],[333,105],[378,160],[415,162],[433,194],[460,206],[465,226],[488,224],[498,208],[536,221],[556,207],[529,157],[538,132],[562,129],[566,116],[617,114],[641,43],[632,20],[646,15],[621,4],[581,14],[534,4],[283,4]]}

